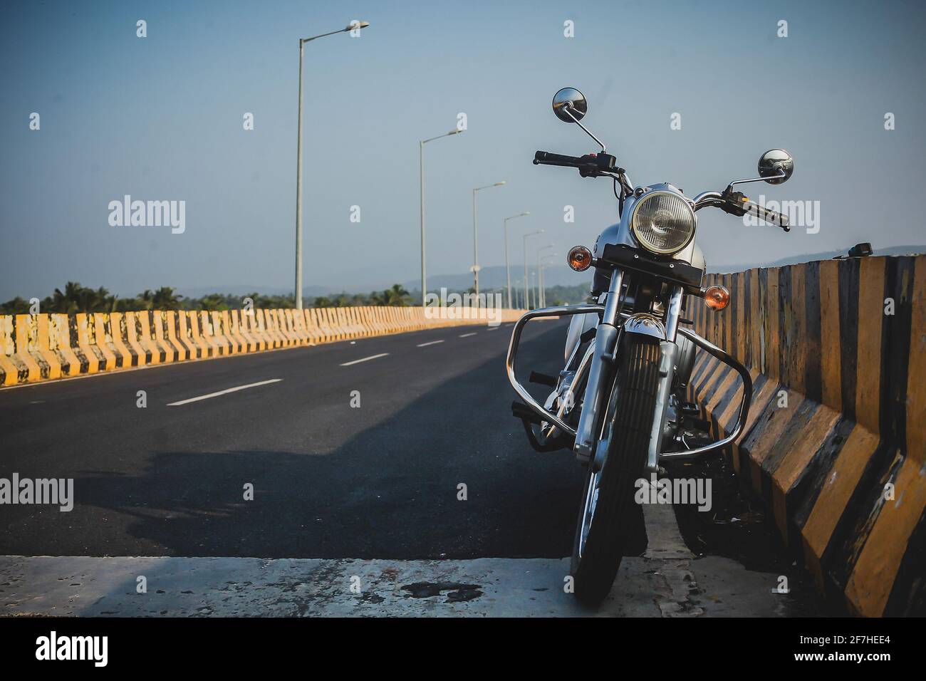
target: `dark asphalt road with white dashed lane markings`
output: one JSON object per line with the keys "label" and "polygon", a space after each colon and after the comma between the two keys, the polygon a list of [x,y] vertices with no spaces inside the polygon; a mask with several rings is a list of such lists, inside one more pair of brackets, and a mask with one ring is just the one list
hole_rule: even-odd
{"label": "dark asphalt road with white dashed lane markings", "polygon": [[[556,372],[564,334],[529,325],[519,365]],[[0,391],[0,477],[73,478],[75,497],[0,508],[0,555],[567,556],[582,471],[511,417],[509,336],[454,327]]]}

